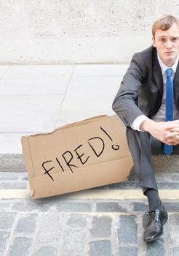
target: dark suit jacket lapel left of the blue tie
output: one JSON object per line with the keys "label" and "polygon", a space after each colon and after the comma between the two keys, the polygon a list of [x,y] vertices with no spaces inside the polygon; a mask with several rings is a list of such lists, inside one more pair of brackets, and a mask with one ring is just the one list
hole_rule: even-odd
{"label": "dark suit jacket lapel left of the blue tie", "polygon": [[162,78],[162,70],[161,67],[159,65],[159,61],[157,58],[157,52],[156,52],[156,48],[154,49],[154,61],[153,61],[153,77],[154,80],[156,82],[156,86],[159,89],[159,92],[161,94],[161,97],[163,95],[163,78]]}

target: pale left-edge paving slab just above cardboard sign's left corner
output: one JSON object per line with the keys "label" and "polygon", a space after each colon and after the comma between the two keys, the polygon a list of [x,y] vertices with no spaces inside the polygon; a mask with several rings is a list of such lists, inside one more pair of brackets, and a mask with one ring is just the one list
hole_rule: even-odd
{"label": "pale left-edge paving slab just above cardboard sign's left corner", "polygon": [[52,131],[62,95],[0,95],[2,133]]}

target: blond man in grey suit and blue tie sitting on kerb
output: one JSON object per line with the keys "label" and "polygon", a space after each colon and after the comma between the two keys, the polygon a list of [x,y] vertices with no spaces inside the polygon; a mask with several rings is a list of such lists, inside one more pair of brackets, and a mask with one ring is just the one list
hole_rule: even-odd
{"label": "blond man in grey suit and blue tie sitting on kerb", "polygon": [[152,26],[153,45],[132,57],[113,109],[127,127],[127,142],[149,222],[144,241],[163,234],[167,211],[159,198],[151,154],[179,154],[179,20],[164,15]]}

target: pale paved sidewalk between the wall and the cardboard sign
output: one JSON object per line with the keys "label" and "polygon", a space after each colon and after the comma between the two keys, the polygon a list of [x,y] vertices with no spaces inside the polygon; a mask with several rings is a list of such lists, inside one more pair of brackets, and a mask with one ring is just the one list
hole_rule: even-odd
{"label": "pale paved sidewalk between the wall and the cardboard sign", "polygon": [[0,66],[0,153],[22,153],[20,137],[100,114],[127,65]]}

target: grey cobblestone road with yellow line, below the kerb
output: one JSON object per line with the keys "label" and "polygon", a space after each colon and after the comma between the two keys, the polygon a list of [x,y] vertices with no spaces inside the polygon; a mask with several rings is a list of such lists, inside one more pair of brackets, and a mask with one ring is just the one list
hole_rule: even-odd
{"label": "grey cobblestone road with yellow line, below the kerb", "polygon": [[[175,192],[179,173],[156,173],[159,189]],[[2,189],[10,196],[1,195]],[[12,189],[12,190],[10,190]],[[136,177],[129,181],[68,195],[31,200],[18,198],[16,189],[28,190],[27,173],[0,173],[0,255],[3,256],[164,256],[179,255],[179,202],[163,199],[169,211],[164,236],[143,242],[146,198],[106,198],[104,192],[139,191]],[[14,191],[14,192],[13,192]],[[101,193],[99,193],[101,191]],[[94,193],[97,192],[96,196]],[[30,192],[29,192],[30,195]],[[90,196],[92,195],[92,196]],[[98,198],[98,195],[104,195]]]}

